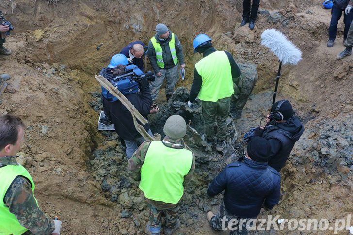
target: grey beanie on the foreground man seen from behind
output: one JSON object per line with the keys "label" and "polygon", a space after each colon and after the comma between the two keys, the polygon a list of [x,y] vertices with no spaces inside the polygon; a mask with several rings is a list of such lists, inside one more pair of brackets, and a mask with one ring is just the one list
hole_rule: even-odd
{"label": "grey beanie on the foreground man seen from behind", "polygon": [[183,138],[186,135],[186,122],[179,115],[170,116],[164,124],[163,131],[172,140]]}

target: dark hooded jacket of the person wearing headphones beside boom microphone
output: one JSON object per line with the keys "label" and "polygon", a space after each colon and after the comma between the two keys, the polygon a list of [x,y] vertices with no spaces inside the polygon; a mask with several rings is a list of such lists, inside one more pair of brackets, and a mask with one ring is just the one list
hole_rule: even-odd
{"label": "dark hooded jacket of the person wearing headphones beside boom microphone", "polygon": [[271,144],[269,166],[279,172],[303,132],[304,126],[297,117],[291,117],[284,123],[269,122],[262,134]]}

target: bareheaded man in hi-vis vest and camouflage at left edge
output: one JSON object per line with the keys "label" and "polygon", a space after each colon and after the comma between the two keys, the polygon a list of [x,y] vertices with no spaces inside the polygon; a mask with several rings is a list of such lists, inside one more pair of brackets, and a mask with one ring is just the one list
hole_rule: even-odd
{"label": "bareheaded man in hi-vis vest and camouflage at left edge", "polygon": [[59,235],[61,221],[51,220],[40,210],[32,177],[16,161],[24,128],[20,119],[0,116],[0,234]]}

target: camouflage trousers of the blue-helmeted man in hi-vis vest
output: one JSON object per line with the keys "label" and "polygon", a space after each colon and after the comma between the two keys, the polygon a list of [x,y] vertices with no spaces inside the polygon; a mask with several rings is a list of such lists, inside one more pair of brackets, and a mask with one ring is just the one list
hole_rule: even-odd
{"label": "camouflage trousers of the blue-helmeted man in hi-vis vest", "polygon": [[[225,140],[227,132],[227,118],[229,116],[230,97],[219,99],[216,102],[202,101],[202,116],[205,125],[205,137],[217,140]],[[214,123],[217,121],[217,133],[215,133]]]}

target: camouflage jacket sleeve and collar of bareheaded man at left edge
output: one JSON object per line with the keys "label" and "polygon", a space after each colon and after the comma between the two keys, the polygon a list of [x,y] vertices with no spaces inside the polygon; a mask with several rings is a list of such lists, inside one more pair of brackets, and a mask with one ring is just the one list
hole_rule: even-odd
{"label": "camouflage jacket sleeve and collar of bareheaded man at left edge", "polygon": [[[2,165],[18,165],[18,163],[15,157],[0,157],[0,166]],[[19,223],[32,234],[49,235],[54,231],[54,221],[39,209],[32,193],[31,183],[26,178],[17,177],[3,200]]]}

